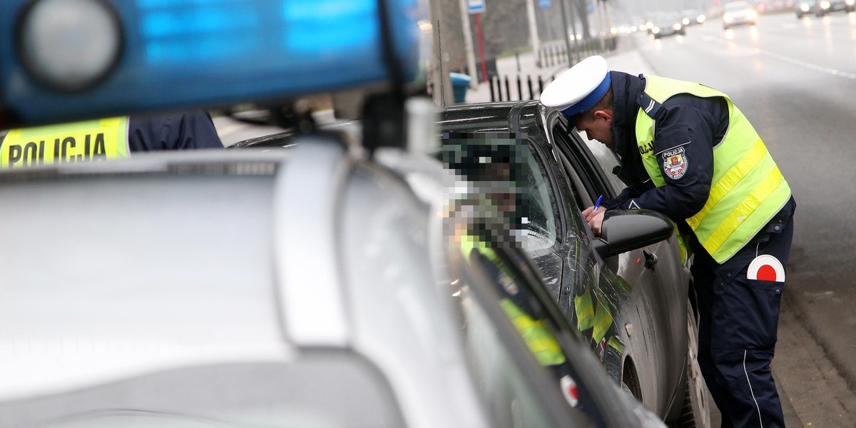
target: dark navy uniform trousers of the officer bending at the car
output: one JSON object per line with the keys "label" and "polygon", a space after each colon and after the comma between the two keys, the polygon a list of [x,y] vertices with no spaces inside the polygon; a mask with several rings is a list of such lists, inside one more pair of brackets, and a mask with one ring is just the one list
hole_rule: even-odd
{"label": "dark navy uniform trousers of the officer bending at the car", "polygon": [[746,277],[748,265],[769,254],[788,265],[794,199],[734,257],[717,265],[693,238],[698,297],[698,365],[722,413],[722,427],[785,426],[770,362],[784,282]]}

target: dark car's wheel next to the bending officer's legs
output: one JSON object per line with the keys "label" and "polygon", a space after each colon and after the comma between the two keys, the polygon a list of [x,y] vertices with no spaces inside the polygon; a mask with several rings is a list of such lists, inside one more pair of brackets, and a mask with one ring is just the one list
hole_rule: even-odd
{"label": "dark car's wheel next to the bending officer's legs", "polygon": [[698,366],[698,323],[693,306],[687,302],[687,386],[684,407],[676,428],[710,428],[710,392]]}

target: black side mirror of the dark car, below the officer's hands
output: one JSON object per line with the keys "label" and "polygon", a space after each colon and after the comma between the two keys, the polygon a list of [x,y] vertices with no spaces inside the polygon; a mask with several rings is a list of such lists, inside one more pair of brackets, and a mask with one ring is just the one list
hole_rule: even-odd
{"label": "black side mirror of the dark car, below the officer's hands", "polygon": [[601,259],[607,259],[669,239],[675,233],[674,224],[656,211],[609,210],[593,247]]}

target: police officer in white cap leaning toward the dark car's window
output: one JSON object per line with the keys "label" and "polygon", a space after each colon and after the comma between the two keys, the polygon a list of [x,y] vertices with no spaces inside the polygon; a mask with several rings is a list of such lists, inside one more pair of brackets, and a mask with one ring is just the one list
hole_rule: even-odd
{"label": "police officer in white cap leaning toward the dark car's window", "polygon": [[648,209],[689,243],[698,364],[722,426],[784,426],[770,361],[796,204],[752,124],[722,92],[609,71],[601,56],[561,74],[541,102],[621,158],[627,189],[583,211],[596,234],[604,211]]}

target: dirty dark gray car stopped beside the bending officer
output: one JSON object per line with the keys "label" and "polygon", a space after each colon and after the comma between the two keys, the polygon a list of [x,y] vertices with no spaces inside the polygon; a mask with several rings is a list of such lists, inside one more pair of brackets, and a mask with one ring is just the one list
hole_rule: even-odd
{"label": "dirty dark gray car stopped beside the bending officer", "polygon": [[[615,155],[592,152],[561,114],[537,102],[456,105],[442,117],[445,131],[505,131],[526,146],[523,247],[564,316],[614,382],[657,415],[681,426],[709,425],[695,360],[692,281],[675,237],[643,248],[604,246],[581,217],[600,195],[621,191],[610,174]],[[618,233],[616,225],[603,235]]]}

